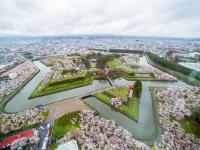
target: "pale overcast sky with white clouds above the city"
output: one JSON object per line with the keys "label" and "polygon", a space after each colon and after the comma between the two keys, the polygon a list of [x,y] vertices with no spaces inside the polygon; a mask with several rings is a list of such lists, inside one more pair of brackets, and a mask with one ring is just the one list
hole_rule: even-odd
{"label": "pale overcast sky with white clouds above the city", "polygon": [[200,0],[0,0],[0,35],[200,37]]}

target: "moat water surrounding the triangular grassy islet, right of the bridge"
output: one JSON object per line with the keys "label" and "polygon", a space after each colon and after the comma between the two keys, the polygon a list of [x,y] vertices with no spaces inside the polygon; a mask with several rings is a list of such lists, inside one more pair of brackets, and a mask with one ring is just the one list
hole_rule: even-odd
{"label": "moat water surrounding the triangular grassy islet, right of the bridge", "polygon": [[[118,86],[126,86],[134,81],[127,81],[124,78],[118,78],[113,80]],[[110,106],[99,101],[95,97],[85,98],[84,101],[95,110],[97,110],[102,116],[113,119],[115,122],[127,129],[136,139],[147,141],[151,143],[156,140],[159,135],[159,124],[156,124],[157,116],[154,114],[152,105],[152,97],[149,91],[149,87],[174,87],[174,86],[188,86],[184,82],[157,82],[157,81],[142,81],[142,94],[139,104],[139,116],[138,121],[134,121],[122,113],[111,109]],[[156,103],[155,103],[156,104]],[[149,142],[148,142],[149,141]]]}

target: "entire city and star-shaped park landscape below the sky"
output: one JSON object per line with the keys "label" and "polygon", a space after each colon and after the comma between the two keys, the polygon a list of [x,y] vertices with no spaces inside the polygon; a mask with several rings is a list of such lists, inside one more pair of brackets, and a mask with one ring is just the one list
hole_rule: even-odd
{"label": "entire city and star-shaped park landscape below the sky", "polygon": [[200,39],[0,38],[0,149],[200,149]]}

